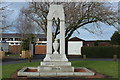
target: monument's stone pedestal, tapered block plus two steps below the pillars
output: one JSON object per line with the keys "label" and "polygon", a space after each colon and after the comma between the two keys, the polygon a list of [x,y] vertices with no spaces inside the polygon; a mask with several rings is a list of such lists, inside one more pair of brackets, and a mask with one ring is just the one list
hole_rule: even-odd
{"label": "monument's stone pedestal, tapered block plus two steps below the pillars", "polygon": [[65,54],[47,54],[48,59],[41,62],[40,72],[73,72],[74,67],[68,62]]}

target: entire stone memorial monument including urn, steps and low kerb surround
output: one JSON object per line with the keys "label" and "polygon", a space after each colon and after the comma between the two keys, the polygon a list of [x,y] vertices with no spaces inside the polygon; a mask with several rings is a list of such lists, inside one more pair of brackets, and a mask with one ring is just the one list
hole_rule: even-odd
{"label": "entire stone memorial monument including urn, steps and low kerb surround", "polygon": [[[57,39],[52,41],[52,20],[60,20],[60,44]],[[60,51],[58,52],[58,47]],[[54,51],[53,51],[54,50]],[[27,72],[27,69],[36,69],[36,72]],[[47,16],[47,53],[38,67],[25,67],[18,71],[18,76],[43,77],[43,76],[91,76],[94,72],[80,67],[85,72],[75,72],[71,62],[65,55],[65,15],[62,5],[50,5]]]}

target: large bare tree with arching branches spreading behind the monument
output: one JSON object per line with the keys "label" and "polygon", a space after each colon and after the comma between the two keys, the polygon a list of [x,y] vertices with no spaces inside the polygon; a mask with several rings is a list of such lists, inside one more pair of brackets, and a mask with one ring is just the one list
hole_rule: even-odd
{"label": "large bare tree with arching branches spreading behind the monument", "polygon": [[[107,25],[116,26],[117,11],[112,10],[109,3],[104,2],[79,2],[79,3],[48,3],[48,2],[32,2],[29,8],[22,10],[29,19],[38,24],[43,32],[47,33],[47,14],[50,4],[62,4],[65,10],[65,38],[66,40],[78,28],[87,24],[96,24],[97,28],[100,28],[98,23],[105,23]],[[86,30],[94,33],[85,27]],[[53,39],[60,33],[59,25],[56,23],[55,34]],[[78,31],[79,32],[79,31]],[[47,35],[47,34],[46,34]]]}

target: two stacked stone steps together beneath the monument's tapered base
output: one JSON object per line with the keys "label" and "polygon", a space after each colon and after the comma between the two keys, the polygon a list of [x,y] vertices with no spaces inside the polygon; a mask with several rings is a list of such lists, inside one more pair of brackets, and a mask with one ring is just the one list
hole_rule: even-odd
{"label": "two stacked stone steps together beneath the monument's tapered base", "polygon": [[74,67],[68,61],[44,61],[38,67],[40,72],[74,72]]}

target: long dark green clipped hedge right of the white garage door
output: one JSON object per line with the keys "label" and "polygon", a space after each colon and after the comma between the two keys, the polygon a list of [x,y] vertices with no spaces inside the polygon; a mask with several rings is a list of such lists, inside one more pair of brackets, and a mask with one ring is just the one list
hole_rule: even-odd
{"label": "long dark green clipped hedge right of the white garage door", "polygon": [[82,47],[82,55],[87,58],[113,58],[113,55],[120,57],[120,47]]}

